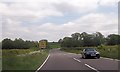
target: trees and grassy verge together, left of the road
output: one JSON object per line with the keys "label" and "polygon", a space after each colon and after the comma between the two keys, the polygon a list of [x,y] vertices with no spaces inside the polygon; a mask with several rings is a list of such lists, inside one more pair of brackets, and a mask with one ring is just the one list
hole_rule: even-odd
{"label": "trees and grassy verge together, left of the road", "polygon": [[37,41],[21,38],[2,40],[2,70],[35,72],[49,54],[50,48],[40,49]]}

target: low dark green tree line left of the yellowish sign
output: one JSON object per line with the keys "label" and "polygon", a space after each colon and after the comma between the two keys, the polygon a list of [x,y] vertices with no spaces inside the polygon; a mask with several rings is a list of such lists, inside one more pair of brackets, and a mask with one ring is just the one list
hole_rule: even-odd
{"label": "low dark green tree line left of the yellowish sign", "polygon": [[38,46],[37,41],[24,41],[21,38],[16,38],[15,40],[6,38],[2,40],[2,49],[29,49]]}

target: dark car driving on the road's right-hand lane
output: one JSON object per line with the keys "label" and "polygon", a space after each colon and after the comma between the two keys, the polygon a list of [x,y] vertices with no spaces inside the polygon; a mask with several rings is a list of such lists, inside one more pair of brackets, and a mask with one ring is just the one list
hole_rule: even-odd
{"label": "dark car driving on the road's right-hand lane", "polygon": [[82,58],[100,58],[100,53],[94,48],[85,48],[82,51]]}

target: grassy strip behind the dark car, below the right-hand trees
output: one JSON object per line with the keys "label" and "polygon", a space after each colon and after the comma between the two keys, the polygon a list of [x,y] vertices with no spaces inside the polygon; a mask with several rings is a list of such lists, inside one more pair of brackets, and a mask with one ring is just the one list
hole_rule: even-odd
{"label": "grassy strip behind the dark car, below the right-hand trees", "polygon": [[[120,51],[119,47],[120,46],[115,45],[115,46],[99,46],[99,47],[92,47],[92,48],[97,49],[100,52],[102,57],[118,59],[118,56],[120,56],[118,53]],[[61,50],[80,54],[84,48],[87,48],[87,47],[63,48]]]}

